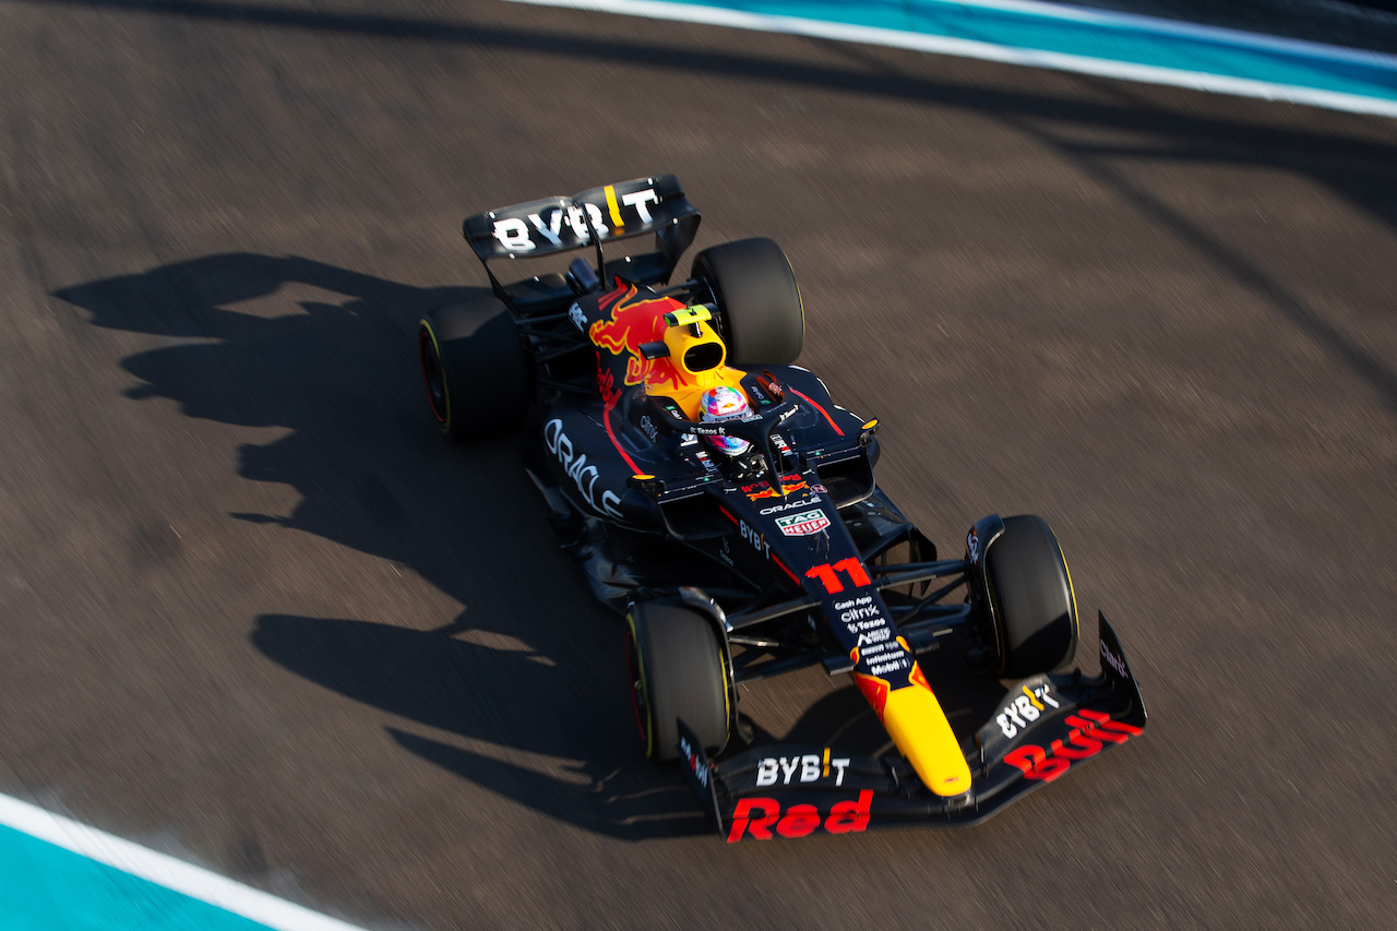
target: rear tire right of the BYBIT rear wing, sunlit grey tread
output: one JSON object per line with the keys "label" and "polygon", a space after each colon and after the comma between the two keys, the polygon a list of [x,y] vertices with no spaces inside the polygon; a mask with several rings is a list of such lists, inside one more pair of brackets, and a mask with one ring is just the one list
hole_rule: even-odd
{"label": "rear tire right of the BYBIT rear wing, sunlit grey tread", "polygon": [[704,249],[689,277],[712,295],[729,365],[791,365],[800,356],[805,308],[781,246],[759,238]]}

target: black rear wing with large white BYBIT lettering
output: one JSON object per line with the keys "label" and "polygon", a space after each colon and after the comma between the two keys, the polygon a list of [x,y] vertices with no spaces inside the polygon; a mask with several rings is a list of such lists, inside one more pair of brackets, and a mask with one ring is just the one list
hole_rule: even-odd
{"label": "black rear wing with large white BYBIT lettering", "polygon": [[605,271],[601,268],[604,242],[652,232],[657,252],[633,257],[631,264],[638,261],[640,267],[627,277],[643,280],[662,271],[658,280],[668,281],[679,256],[693,243],[698,219],[698,210],[685,197],[679,179],[657,175],[594,187],[571,197],[545,197],[490,210],[467,217],[462,231],[486,271],[492,259],[535,259],[595,246],[599,273]]}

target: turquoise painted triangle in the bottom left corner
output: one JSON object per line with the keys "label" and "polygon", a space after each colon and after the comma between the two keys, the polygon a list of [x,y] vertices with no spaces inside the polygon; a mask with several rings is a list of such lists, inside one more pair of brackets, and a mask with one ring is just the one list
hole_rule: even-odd
{"label": "turquoise painted triangle in the bottom left corner", "polygon": [[0,826],[3,931],[265,931],[231,911]]}

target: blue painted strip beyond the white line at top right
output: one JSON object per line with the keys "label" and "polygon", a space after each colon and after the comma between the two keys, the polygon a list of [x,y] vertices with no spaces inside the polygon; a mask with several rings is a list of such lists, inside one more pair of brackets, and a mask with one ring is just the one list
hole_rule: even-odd
{"label": "blue painted strip beyond the white line at top right", "polygon": [[[1397,57],[1044,3],[661,0],[1397,101]],[[658,6],[658,4],[657,4]]]}

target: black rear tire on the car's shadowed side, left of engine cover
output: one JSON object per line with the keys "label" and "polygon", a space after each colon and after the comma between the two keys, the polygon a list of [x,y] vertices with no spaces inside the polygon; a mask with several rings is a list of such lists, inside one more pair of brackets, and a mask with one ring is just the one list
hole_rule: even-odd
{"label": "black rear tire on the car's shadowed side, left of engine cover", "polygon": [[418,358],[432,417],[448,438],[507,433],[528,415],[528,356],[509,310],[496,298],[422,317]]}

